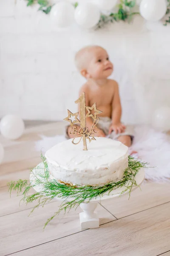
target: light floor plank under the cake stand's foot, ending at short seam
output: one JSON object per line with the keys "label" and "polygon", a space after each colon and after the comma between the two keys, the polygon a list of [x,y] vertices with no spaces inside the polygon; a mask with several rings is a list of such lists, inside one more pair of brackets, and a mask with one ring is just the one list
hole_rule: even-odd
{"label": "light floor plank under the cake stand's foot, ending at short seam", "polygon": [[[57,211],[61,202],[46,204],[36,209],[29,217],[30,209],[0,217],[0,255],[14,253],[53,239],[59,239],[80,232],[79,212],[77,208],[68,214],[59,214],[45,228],[42,228],[49,217]],[[113,221],[115,218],[98,204],[96,212],[100,224]]]}

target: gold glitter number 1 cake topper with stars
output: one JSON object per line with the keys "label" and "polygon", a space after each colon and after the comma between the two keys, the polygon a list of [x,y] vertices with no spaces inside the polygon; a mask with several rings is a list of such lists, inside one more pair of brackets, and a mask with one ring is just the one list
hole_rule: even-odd
{"label": "gold glitter number 1 cake topper with stars", "polygon": [[[99,111],[98,109],[96,109],[96,102],[92,107],[88,107],[85,105],[85,93],[82,93],[79,99],[75,101],[75,103],[80,104],[80,113],[79,112],[71,113],[71,111],[68,110],[68,116],[64,120],[68,121],[71,125],[70,134],[75,134],[75,133],[78,134],[76,137],[74,137],[74,139],[77,137],[80,137],[80,140],[77,143],[74,143],[74,139],[72,140],[72,143],[74,145],[77,145],[80,143],[81,140],[83,140],[83,150],[87,150],[86,140],[88,139],[89,142],[91,142],[92,140],[96,140],[94,138],[94,134],[97,133],[97,131],[95,131],[95,128],[97,123],[99,122],[99,117],[97,117],[97,115],[99,113],[102,113],[102,111]],[[86,110],[88,111],[87,114],[86,114]],[[91,110],[94,110],[94,114],[91,113]],[[78,115],[80,115],[81,122],[77,118]],[[71,116],[74,116],[74,121],[72,121]],[[90,117],[90,116],[93,118],[94,122],[91,127],[91,130],[88,131],[88,128],[86,128],[86,117]],[[80,128],[79,128],[79,125],[80,125]]]}

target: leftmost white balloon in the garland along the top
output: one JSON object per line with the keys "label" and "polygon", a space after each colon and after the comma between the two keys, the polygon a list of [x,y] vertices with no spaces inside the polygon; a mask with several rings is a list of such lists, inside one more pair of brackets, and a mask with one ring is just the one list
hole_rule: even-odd
{"label": "leftmost white balloon in the garland along the top", "polygon": [[74,6],[66,1],[56,3],[51,8],[50,18],[57,27],[70,26],[74,21]]}

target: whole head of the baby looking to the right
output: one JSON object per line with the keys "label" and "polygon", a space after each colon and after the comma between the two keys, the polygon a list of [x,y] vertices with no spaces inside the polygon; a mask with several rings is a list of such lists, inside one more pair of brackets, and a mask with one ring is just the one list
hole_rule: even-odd
{"label": "whole head of the baby looking to the right", "polygon": [[80,49],[75,62],[78,70],[86,79],[107,78],[113,72],[113,64],[102,47],[92,45]]}

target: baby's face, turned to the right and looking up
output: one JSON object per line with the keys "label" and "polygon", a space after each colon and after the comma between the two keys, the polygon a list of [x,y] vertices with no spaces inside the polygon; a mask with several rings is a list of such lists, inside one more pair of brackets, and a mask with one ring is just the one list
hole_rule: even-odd
{"label": "baby's face, turned to the right and looking up", "polygon": [[107,78],[113,72],[113,64],[108,53],[101,47],[91,49],[91,58],[88,64],[88,76],[94,79]]}

